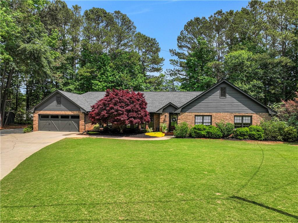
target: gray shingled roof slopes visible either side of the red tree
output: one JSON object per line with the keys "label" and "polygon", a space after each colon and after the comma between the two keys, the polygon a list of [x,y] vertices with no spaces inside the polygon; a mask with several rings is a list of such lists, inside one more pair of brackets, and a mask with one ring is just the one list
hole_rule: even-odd
{"label": "gray shingled roof slopes visible either side of the red tree", "polygon": [[[148,112],[156,112],[169,102],[177,107],[198,96],[202,91],[140,91],[148,103]],[[105,96],[105,91],[89,91],[81,95],[61,91],[66,97],[74,101],[77,105],[86,111],[91,110],[91,106]]]}

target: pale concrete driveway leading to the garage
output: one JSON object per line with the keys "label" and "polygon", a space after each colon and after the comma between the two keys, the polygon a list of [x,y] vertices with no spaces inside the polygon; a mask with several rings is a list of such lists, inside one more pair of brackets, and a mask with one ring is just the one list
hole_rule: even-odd
{"label": "pale concrete driveway leading to the garage", "polygon": [[[14,131],[1,130],[0,136],[0,179],[10,173],[24,159],[41,148],[66,137],[75,137],[78,132],[29,132],[19,134],[20,129]],[[23,129],[21,129],[23,131]]]}

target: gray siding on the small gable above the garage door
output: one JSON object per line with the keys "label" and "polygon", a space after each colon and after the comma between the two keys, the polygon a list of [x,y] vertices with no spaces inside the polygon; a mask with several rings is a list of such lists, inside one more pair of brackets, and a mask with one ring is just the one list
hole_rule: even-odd
{"label": "gray siding on the small gable above the garage door", "polygon": [[[61,105],[56,105],[56,96],[61,96]],[[63,95],[56,93],[52,95],[49,99],[43,102],[41,105],[35,108],[35,111],[80,111],[74,103],[69,101]]]}

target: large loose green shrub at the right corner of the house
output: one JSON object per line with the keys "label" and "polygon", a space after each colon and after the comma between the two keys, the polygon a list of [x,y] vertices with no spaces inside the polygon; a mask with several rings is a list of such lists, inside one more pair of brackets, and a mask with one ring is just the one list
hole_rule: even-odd
{"label": "large loose green shrub at the right corner of the house", "polygon": [[283,141],[283,136],[287,124],[278,119],[270,121],[262,121],[260,126],[264,130],[264,138],[267,140]]}

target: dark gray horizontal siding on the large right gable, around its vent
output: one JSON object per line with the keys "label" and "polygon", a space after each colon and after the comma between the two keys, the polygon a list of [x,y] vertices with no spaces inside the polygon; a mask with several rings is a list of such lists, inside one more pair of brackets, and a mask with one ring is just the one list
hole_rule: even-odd
{"label": "dark gray horizontal siding on the large right gable, around its vent", "polygon": [[[226,87],[226,98],[219,98],[220,87]],[[268,113],[268,109],[232,86],[222,83],[183,107],[181,112]]]}

